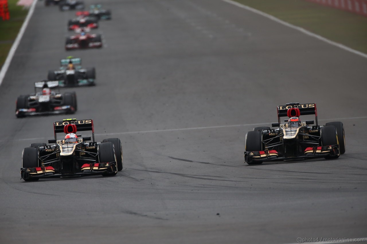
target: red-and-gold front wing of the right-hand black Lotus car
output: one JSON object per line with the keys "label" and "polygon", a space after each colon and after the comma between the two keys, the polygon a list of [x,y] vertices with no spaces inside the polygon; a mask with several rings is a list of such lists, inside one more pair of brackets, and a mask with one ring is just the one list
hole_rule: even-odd
{"label": "red-and-gold front wing of the right-hand black Lotus car", "polygon": [[292,159],[308,159],[308,158],[323,158],[323,157],[333,157],[339,155],[338,145],[328,145],[328,146],[317,146],[308,147],[305,149],[303,154],[294,157],[285,157],[280,155],[276,150],[265,150],[265,151],[255,151],[255,152],[244,152],[245,163],[256,163],[256,162],[266,162],[266,161],[281,161],[281,160],[292,160]]}

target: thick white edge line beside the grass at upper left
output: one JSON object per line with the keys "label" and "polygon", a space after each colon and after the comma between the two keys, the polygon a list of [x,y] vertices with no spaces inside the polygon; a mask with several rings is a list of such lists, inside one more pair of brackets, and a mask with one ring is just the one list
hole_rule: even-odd
{"label": "thick white edge line beside the grass at upper left", "polygon": [[6,72],[8,71],[8,68],[10,66],[11,60],[13,59],[15,51],[17,51],[19,43],[22,40],[23,34],[25,32],[25,29],[28,26],[29,20],[33,15],[34,8],[36,7],[36,3],[37,3],[37,0],[33,0],[33,3],[31,5],[31,7],[29,8],[28,14],[27,14],[27,16],[26,16],[26,18],[23,22],[23,25],[22,25],[21,29],[18,32],[17,38],[15,38],[15,41],[14,41],[13,45],[11,46],[11,48],[9,50],[9,53],[8,53],[8,56],[7,56],[7,58],[6,58],[6,60],[3,64],[3,67],[1,68],[1,71],[0,71],[0,86],[1,86],[1,83],[3,83],[4,77],[6,75]]}

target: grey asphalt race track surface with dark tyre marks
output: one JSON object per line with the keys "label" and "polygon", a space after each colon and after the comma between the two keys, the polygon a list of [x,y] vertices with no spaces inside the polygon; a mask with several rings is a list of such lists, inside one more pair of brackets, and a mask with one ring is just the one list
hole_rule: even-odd
{"label": "grey asphalt race track surface with dark tyre marks", "polygon": [[[86,3],[95,3],[88,0]],[[221,0],[105,0],[105,47],[64,50],[74,11],[36,5],[0,87],[0,243],[296,243],[367,230],[367,59]],[[59,59],[97,69],[75,115],[15,117]],[[248,166],[245,134],[276,106],[342,121],[337,160]],[[24,182],[21,153],[54,121],[119,137],[116,177]],[[302,119],[302,118],[301,118]]]}

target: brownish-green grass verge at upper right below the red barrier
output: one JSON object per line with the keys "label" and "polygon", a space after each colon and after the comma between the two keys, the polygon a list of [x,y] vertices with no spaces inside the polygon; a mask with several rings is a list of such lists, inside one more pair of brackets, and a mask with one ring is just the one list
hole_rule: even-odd
{"label": "brownish-green grass verge at upper right below the red barrier", "polygon": [[329,40],[367,53],[367,17],[305,0],[236,0]]}

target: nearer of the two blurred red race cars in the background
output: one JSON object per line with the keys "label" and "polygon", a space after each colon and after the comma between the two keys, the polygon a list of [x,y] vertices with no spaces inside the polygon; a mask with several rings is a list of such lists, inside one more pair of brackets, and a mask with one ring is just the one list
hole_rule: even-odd
{"label": "nearer of the two blurred red race cars in the background", "polygon": [[102,36],[101,34],[88,34],[81,32],[75,36],[67,37],[65,43],[66,51],[72,49],[84,48],[101,48]]}

